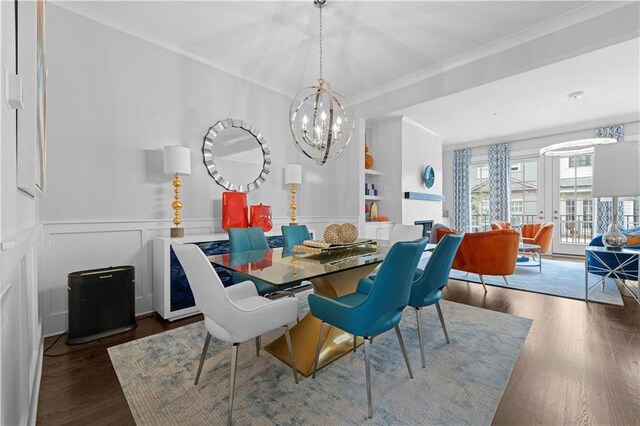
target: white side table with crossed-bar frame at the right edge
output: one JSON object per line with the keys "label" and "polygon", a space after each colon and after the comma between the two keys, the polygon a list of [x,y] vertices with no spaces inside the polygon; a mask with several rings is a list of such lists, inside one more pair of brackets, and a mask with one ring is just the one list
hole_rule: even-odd
{"label": "white side table with crossed-bar frame at the right edge", "polygon": [[[627,247],[622,247],[620,249],[612,249],[609,247],[587,246],[585,247],[584,252],[585,252],[584,253],[585,254],[584,256],[584,301],[585,302],[589,301],[589,293],[595,286],[600,284],[601,288],[604,289],[604,281],[607,278],[611,277],[612,275],[617,278],[618,277],[617,274],[622,272],[623,268],[627,268],[635,263],[637,267],[635,270],[631,270],[631,272],[635,272],[637,274],[638,271],[640,270],[640,249],[633,249],[633,248],[627,248]],[[617,262],[615,267],[611,267],[602,258],[601,256],[602,254],[614,255],[616,258],[618,258],[617,255],[620,255],[620,254],[623,254],[625,256],[624,258],[619,259],[620,261]],[[589,255],[591,255],[598,262],[598,266],[592,265],[591,270],[595,270],[599,273],[604,274],[604,275],[600,275],[600,279],[592,286],[589,285],[589,275],[590,275],[589,263],[588,263]],[[594,274],[591,274],[591,275],[594,275]],[[631,297],[633,297],[636,300],[636,302],[640,303],[640,283],[638,283],[637,287],[634,290],[633,287],[630,287],[627,284],[627,280],[621,279],[620,281],[622,282],[622,285],[627,289],[627,291],[631,294]]]}

